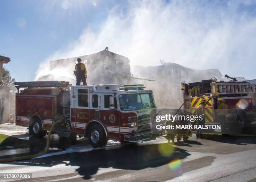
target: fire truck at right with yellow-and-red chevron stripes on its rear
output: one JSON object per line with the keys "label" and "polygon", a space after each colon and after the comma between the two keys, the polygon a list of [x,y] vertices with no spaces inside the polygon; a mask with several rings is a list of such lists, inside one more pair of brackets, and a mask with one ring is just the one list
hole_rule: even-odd
{"label": "fire truck at right with yellow-and-red chevron stripes on its rear", "polygon": [[225,99],[225,104],[228,106],[226,122],[235,123],[243,128],[255,120],[255,84],[236,80],[217,81],[216,78],[212,78],[194,83],[182,82],[181,90],[184,98],[184,112],[187,114],[194,114],[201,98],[207,101],[205,105],[207,124],[219,124],[218,98]]}

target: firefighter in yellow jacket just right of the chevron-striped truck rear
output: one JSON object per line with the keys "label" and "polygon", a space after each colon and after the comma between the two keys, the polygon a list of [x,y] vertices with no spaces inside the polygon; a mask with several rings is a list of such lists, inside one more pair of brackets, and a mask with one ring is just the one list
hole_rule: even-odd
{"label": "firefighter in yellow jacket just right of the chevron-striped truck rear", "polygon": [[218,119],[220,122],[220,129],[222,134],[226,133],[226,114],[228,114],[228,106],[225,104],[225,100],[223,98],[218,98],[218,107],[217,107]]}

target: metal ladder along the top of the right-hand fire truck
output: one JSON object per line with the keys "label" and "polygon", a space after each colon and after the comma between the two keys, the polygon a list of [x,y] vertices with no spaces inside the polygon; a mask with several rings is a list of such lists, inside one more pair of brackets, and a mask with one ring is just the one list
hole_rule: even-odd
{"label": "metal ladder along the top of the right-hand fire truck", "polygon": [[251,94],[256,93],[256,84],[246,83],[217,83],[219,94]]}

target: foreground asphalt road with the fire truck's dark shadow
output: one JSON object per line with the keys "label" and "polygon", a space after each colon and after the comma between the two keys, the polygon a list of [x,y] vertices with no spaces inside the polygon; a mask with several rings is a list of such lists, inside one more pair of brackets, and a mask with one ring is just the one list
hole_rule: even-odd
{"label": "foreground asphalt road with the fire truck's dark shadow", "polygon": [[0,173],[18,172],[32,173],[27,181],[256,181],[256,137],[159,138],[0,164]]}

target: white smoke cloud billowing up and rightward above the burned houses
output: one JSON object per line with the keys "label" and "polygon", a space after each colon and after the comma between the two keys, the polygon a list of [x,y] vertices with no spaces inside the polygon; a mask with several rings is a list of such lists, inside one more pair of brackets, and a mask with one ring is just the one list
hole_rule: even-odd
{"label": "white smoke cloud billowing up and rightward above the burned houses", "polygon": [[[79,40],[48,61],[109,50],[131,65],[156,66],[159,59],[196,69],[219,68],[230,76],[253,78],[256,15],[253,1],[130,1],[110,10],[100,29],[86,27]],[[89,70],[90,71],[90,70]]]}

